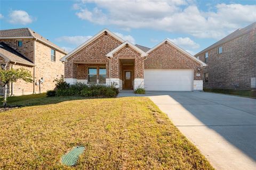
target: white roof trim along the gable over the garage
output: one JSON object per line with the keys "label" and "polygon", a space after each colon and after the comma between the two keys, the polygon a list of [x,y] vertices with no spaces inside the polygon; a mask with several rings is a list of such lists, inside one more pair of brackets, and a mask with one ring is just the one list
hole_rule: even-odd
{"label": "white roof trim along the gable over the garage", "polygon": [[167,41],[167,43],[169,43],[171,46],[173,46],[174,48],[180,50],[180,52],[182,52],[183,54],[187,55],[188,57],[190,57],[191,59],[193,59],[194,61],[196,61],[197,63],[201,64],[202,66],[206,66],[206,64],[204,62],[202,62],[201,60],[197,59],[195,56],[191,55],[190,53],[186,52],[186,50],[182,49],[181,47],[179,47],[178,45],[172,43],[172,41],[170,41],[169,39],[165,39],[163,40],[161,43],[157,44],[155,47],[151,48],[150,50],[147,51],[147,54],[149,54],[150,52],[153,52],[153,50],[155,50],[157,47],[161,46],[162,44],[164,44]]}

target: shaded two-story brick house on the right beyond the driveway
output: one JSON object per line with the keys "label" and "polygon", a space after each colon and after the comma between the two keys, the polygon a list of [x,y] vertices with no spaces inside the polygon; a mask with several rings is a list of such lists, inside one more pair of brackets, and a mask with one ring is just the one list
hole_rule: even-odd
{"label": "shaded two-story brick house on the right beyond the driveway", "polygon": [[203,69],[204,88],[255,88],[256,22],[234,31],[195,56],[207,64]]}

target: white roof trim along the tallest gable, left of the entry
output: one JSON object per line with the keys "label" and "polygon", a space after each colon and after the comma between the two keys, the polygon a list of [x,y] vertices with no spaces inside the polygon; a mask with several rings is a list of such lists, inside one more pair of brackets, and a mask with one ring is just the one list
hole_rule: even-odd
{"label": "white roof trim along the tallest gable, left of the entry", "polygon": [[77,53],[79,50],[81,50],[82,48],[84,48],[85,46],[89,45],[93,40],[97,39],[99,36],[101,36],[104,32],[109,33],[109,35],[111,35],[112,37],[114,37],[115,39],[117,39],[118,41],[120,41],[121,43],[124,43],[124,40],[120,37],[118,37],[117,35],[115,35],[115,33],[109,31],[108,29],[103,29],[101,30],[99,33],[97,33],[97,35],[93,36],[92,38],[88,39],[87,41],[85,41],[83,44],[81,44],[80,46],[78,46],[77,48],[75,48],[73,51],[71,51],[70,53],[68,53],[67,55],[65,55],[64,57],[62,57],[60,59],[60,61],[66,61],[69,57],[71,57],[73,54]]}

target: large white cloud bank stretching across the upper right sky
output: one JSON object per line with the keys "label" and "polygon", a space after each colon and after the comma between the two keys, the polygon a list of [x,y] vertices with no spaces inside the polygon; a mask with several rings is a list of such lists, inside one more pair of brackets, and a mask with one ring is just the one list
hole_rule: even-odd
{"label": "large white cloud bank stretching across the upper right sky", "polygon": [[[92,10],[86,8],[94,3]],[[151,28],[219,39],[256,20],[256,5],[216,4],[209,11],[194,1],[83,1],[78,18],[123,29]]]}

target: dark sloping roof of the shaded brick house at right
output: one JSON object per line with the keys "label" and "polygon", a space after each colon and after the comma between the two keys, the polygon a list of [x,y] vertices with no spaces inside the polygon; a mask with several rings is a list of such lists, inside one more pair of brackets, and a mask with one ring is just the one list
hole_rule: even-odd
{"label": "dark sloping roof of the shaded brick house at right", "polygon": [[252,24],[248,25],[245,28],[237,29],[236,31],[230,33],[230,35],[228,35],[228,36],[222,38],[221,40],[219,40],[217,43],[214,43],[213,45],[211,45],[211,46],[205,48],[204,50],[202,50],[201,52],[197,53],[195,56],[197,56],[199,54],[202,54],[202,53],[205,53],[208,50],[210,50],[212,48],[215,48],[215,47],[218,47],[221,44],[226,43],[226,42],[228,42],[230,40],[233,40],[233,39],[235,39],[237,37],[240,37],[240,36],[244,35],[245,33],[252,31],[253,29],[254,30],[256,29],[256,22],[253,22]]}

